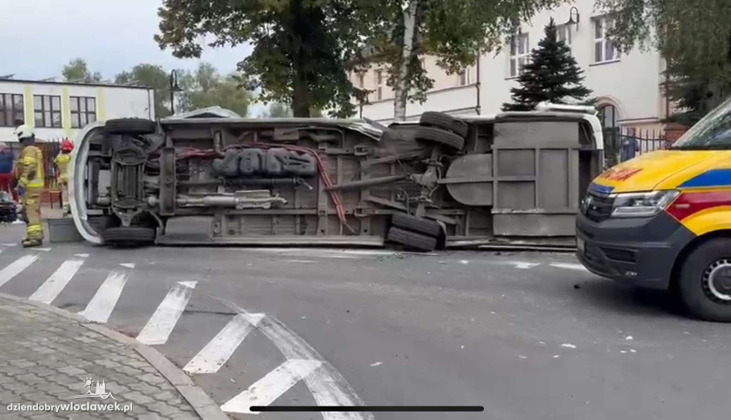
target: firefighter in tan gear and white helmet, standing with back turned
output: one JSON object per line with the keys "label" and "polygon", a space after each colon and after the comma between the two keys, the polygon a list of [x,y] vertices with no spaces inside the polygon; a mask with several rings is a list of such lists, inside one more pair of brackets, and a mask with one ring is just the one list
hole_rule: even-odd
{"label": "firefighter in tan gear and white helmet, standing with back turned", "polygon": [[26,239],[23,247],[39,246],[43,243],[41,224],[41,192],[43,191],[43,155],[35,145],[36,135],[26,124],[19,126],[13,133],[23,146],[15,162],[18,177],[18,194],[22,196],[26,212]]}

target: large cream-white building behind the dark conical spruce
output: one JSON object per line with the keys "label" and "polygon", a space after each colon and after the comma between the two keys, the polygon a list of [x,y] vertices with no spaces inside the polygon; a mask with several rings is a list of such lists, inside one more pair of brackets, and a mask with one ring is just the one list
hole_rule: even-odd
{"label": "large cream-white building behind the dark conical spruce", "polygon": [[[434,80],[427,102],[406,105],[406,117],[414,120],[424,111],[453,115],[489,115],[500,112],[510,102],[510,88],[517,86],[521,64],[544,37],[550,18],[556,21],[559,38],[571,47],[583,69],[584,84],[599,98],[597,107],[605,126],[626,126],[660,130],[660,121],[672,111],[662,94],[664,60],[655,50],[638,49],[620,54],[605,39],[610,18],[594,9],[594,0],[540,12],[522,23],[512,45],[499,54],[482,53],[473,66],[458,75],[447,75],[436,65],[436,58],[422,58],[429,77]],[[571,21],[572,23],[569,23]],[[352,75],[357,87],[374,90],[363,104],[363,118],[387,123],[393,120],[393,89],[385,84],[385,69],[372,68],[364,75]],[[360,106],[360,104],[357,104]]]}

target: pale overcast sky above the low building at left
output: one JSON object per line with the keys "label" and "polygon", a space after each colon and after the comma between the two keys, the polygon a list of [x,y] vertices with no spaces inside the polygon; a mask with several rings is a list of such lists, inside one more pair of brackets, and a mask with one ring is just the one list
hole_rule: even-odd
{"label": "pale overcast sky above the low building at left", "polygon": [[208,61],[225,74],[251,51],[248,45],[207,48],[200,59],[183,60],[170,50],[160,50],[152,37],[158,31],[162,0],[0,3],[0,75],[15,74],[16,79],[59,77],[72,58],[83,58],[88,69],[102,73],[105,80],[140,63],[170,70],[194,69],[200,61]]}

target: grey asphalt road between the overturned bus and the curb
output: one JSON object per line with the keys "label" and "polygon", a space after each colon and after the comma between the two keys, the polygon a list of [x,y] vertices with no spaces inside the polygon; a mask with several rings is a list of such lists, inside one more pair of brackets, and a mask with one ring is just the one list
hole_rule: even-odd
{"label": "grey asphalt road between the overturned bus and the curb", "polygon": [[[0,227],[0,243],[20,236]],[[685,318],[664,294],[598,278],[570,254],[48,246],[0,245],[0,270],[37,256],[0,292],[79,312],[115,272],[126,283],[111,327],[162,337],[154,345],[181,367],[211,340],[219,358],[232,347],[219,363],[199,357],[214,371],[192,376],[235,418],[724,419],[731,407],[730,325]],[[58,293],[42,286],[79,259]],[[148,327],[173,301],[172,326]],[[485,411],[235,413],[328,398]]]}

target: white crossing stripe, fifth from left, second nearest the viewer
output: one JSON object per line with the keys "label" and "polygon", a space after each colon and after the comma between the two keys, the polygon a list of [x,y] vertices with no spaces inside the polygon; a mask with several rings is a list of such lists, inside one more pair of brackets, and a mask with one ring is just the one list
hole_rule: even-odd
{"label": "white crossing stripe, fifth from left, second nearest the viewer", "polygon": [[[257,320],[258,318],[258,320]],[[216,373],[231,357],[236,348],[243,342],[251,329],[264,318],[263,313],[252,313],[251,321],[236,315],[226,326],[183,367],[186,373]]]}

